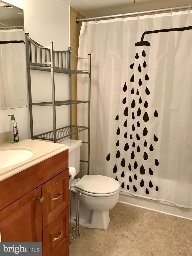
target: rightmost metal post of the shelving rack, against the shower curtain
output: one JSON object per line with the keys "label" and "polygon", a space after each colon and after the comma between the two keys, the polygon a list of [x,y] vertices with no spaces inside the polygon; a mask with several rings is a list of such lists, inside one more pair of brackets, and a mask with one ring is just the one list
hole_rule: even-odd
{"label": "rightmost metal post of the shelving rack, against the shower curtain", "polygon": [[89,175],[90,158],[90,113],[91,113],[91,54],[88,54],[89,78],[88,78],[88,151],[87,151],[87,174]]}

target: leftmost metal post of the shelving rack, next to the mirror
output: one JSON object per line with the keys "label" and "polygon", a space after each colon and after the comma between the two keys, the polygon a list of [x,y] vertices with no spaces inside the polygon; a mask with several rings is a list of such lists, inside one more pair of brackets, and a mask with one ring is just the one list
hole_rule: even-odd
{"label": "leftmost metal post of the shelving rack, next to the mirror", "polygon": [[29,95],[29,118],[30,118],[30,131],[31,139],[33,140],[33,112],[32,112],[32,92],[31,92],[31,71],[30,71],[30,42],[28,40],[29,33],[25,33],[25,44],[26,44],[26,62],[27,62],[27,82],[28,82],[28,95]]}

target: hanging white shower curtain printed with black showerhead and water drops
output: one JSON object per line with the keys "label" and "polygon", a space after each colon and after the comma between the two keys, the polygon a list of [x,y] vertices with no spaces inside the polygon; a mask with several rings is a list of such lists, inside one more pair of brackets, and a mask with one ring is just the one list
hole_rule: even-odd
{"label": "hanging white shower curtain printed with black showerhead and water drops", "polygon": [[[79,37],[79,56],[91,54],[90,174],[181,207],[192,207],[191,25],[182,11],[83,22]],[[77,99],[87,98],[78,75]],[[86,110],[78,104],[78,125]]]}

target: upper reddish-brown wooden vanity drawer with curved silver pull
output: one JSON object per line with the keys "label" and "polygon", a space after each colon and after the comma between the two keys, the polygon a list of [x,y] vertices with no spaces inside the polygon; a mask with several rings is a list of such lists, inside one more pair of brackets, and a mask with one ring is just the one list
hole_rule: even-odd
{"label": "upper reddish-brown wooden vanity drawer with curved silver pull", "polygon": [[42,185],[43,228],[69,205],[69,169]]}

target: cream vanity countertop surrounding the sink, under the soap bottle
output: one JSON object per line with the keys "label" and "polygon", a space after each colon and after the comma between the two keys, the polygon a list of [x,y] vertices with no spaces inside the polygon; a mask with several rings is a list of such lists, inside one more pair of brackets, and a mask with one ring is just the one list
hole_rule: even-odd
{"label": "cream vanity countertop surrounding the sink, under the soap bottle", "polygon": [[[41,140],[30,140],[30,139],[20,139],[17,143],[0,143],[0,151],[9,149],[26,149],[33,152],[31,158],[23,161],[19,164],[11,165],[9,167],[0,168],[0,181],[13,176],[35,164],[44,161],[53,155],[63,152],[69,147],[64,144],[46,142]],[[1,161],[1,159],[0,159]]]}

